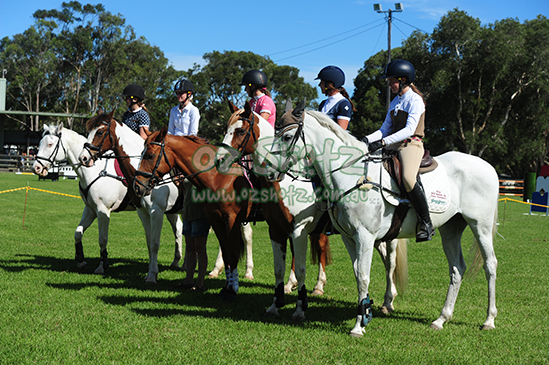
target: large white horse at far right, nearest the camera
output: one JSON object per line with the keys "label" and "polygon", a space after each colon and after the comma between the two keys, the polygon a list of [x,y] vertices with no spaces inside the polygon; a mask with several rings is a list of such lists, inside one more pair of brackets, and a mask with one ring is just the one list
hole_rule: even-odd
{"label": "large white horse at far right, nearest the camera", "polygon": [[[358,289],[358,314],[352,336],[362,336],[371,319],[368,285],[374,243],[390,229],[395,206],[386,198],[384,182],[389,182],[380,158],[364,155],[367,146],[357,141],[336,123],[319,112],[304,112],[304,103],[288,111],[277,124],[273,153],[282,155],[280,172],[296,161],[312,161],[316,172],[323,177],[325,197],[330,217],[341,232],[341,237],[353,263]],[[368,161],[364,165],[364,156]],[[305,158],[310,160],[305,160]],[[475,247],[484,259],[488,281],[488,310],[483,329],[495,327],[496,268],[493,249],[496,230],[499,184],[492,166],[482,159],[448,152],[435,158],[438,168],[423,174],[433,224],[442,237],[448,259],[450,285],[440,317],[431,327],[442,329],[452,318],[466,264],[461,250],[461,236],[469,225],[476,239]],[[366,173],[372,187],[357,189],[357,181]],[[394,198],[393,198],[394,200]],[[397,202],[398,204],[398,202]],[[417,218],[413,209],[408,211],[398,237],[415,237]]]}

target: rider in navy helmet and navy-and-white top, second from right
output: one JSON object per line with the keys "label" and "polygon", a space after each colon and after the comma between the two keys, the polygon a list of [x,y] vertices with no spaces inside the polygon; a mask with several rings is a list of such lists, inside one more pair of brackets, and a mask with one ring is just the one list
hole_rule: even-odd
{"label": "rider in navy helmet and navy-and-white top, second from right", "polygon": [[318,86],[328,97],[320,103],[318,110],[332,118],[341,128],[347,129],[355,108],[343,87],[345,73],[337,66],[326,66],[315,80],[320,80]]}

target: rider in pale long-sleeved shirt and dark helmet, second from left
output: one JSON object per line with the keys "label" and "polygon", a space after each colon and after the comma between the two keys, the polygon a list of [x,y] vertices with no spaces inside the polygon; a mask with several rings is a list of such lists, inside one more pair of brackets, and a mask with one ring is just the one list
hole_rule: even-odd
{"label": "rider in pale long-sleeved shirt and dark helmet, second from left", "polygon": [[200,112],[192,103],[194,94],[192,82],[181,79],[176,82],[173,91],[179,104],[170,110],[168,133],[175,136],[196,136]]}

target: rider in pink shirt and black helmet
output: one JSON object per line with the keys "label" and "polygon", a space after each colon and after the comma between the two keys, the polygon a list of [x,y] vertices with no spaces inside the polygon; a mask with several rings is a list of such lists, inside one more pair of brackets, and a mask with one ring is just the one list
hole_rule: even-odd
{"label": "rider in pink shirt and black helmet", "polygon": [[258,113],[274,128],[276,106],[267,90],[267,76],[259,70],[250,70],[244,74],[239,85],[244,85],[246,93],[251,98],[248,103],[252,111]]}

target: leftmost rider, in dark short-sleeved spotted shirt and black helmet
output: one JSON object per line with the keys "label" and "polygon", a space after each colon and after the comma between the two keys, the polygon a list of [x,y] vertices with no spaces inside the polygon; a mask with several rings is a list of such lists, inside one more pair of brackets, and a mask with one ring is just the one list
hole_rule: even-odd
{"label": "leftmost rider, in dark short-sleeved spotted shirt and black helmet", "polygon": [[139,134],[141,138],[147,138],[146,132],[149,131],[151,118],[143,102],[145,100],[145,90],[137,84],[130,84],[122,92],[122,97],[128,107],[128,110],[122,115],[122,123]]}

